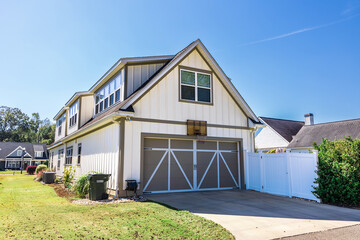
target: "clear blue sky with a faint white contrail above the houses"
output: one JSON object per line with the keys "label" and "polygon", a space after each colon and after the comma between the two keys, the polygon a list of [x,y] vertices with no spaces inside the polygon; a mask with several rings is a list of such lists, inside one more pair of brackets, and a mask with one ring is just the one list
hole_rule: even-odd
{"label": "clear blue sky with a faint white contrail above the houses", "polygon": [[50,119],[119,58],[200,38],[259,116],[360,118],[360,1],[0,0],[0,105]]}

